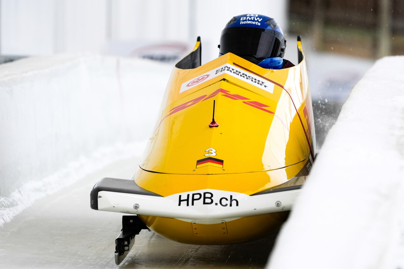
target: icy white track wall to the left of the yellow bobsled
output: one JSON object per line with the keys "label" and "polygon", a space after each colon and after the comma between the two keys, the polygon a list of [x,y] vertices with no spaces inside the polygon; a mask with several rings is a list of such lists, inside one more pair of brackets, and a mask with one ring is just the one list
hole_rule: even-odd
{"label": "icy white track wall to the left of the yellow bobsled", "polygon": [[95,55],[0,65],[0,226],[87,173],[140,156],[172,69]]}

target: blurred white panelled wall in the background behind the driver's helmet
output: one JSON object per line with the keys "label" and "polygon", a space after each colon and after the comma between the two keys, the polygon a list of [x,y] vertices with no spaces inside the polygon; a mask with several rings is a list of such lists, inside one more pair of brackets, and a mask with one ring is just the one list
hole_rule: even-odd
{"label": "blurred white panelled wall in the background behind the driver's helmet", "polygon": [[[206,63],[219,55],[220,33],[233,16],[274,17],[287,35],[287,10],[287,0],[1,0],[0,52],[100,53],[109,42],[118,41],[176,41],[193,46],[199,35]],[[290,40],[294,44],[296,36]]]}

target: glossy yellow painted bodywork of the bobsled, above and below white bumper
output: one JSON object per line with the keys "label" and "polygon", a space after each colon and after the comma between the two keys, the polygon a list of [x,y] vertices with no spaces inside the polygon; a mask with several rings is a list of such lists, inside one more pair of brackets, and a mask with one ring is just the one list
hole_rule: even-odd
{"label": "glossy yellow painted bodywork of the bobsled, above and below white bumper", "polygon": [[[194,50],[200,46],[198,43]],[[302,50],[300,42],[298,48]],[[224,64],[239,66],[246,74],[255,74],[267,83],[275,81],[273,92],[222,74],[180,93],[185,81]],[[209,98],[218,90],[217,95]],[[210,128],[213,100],[219,127]],[[257,108],[248,102],[265,106]],[[196,167],[196,161],[206,158],[209,148],[215,150],[213,158],[224,161],[223,168]],[[142,188],[162,196],[203,189],[250,195],[308,171],[314,160],[314,148],[313,112],[304,58],[295,67],[272,70],[227,53],[195,69],[174,68],[159,119],[134,180]],[[196,235],[188,221],[139,217],[150,229],[175,241],[225,244],[271,234],[280,227],[284,216],[272,213],[223,220],[226,234],[218,232],[223,228],[221,222],[194,223],[204,231],[203,236]]]}

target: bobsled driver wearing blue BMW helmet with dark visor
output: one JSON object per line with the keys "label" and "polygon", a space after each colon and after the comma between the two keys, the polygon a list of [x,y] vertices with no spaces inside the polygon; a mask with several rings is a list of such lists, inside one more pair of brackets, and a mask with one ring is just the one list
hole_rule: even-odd
{"label": "bobsled driver wearing blue BMW helmet with dark visor", "polygon": [[244,14],[233,17],[223,29],[219,57],[231,52],[263,68],[293,67],[295,65],[283,59],[285,48],[282,29],[274,19]]}

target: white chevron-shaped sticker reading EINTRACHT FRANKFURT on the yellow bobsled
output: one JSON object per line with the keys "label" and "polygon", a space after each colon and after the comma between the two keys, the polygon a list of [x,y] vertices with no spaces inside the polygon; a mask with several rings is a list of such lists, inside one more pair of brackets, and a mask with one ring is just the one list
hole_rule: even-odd
{"label": "white chevron-shaped sticker reading EINTRACHT FRANKFURT on the yellow bobsled", "polygon": [[186,90],[189,90],[189,89],[199,85],[202,81],[208,81],[209,79],[213,79],[222,74],[229,74],[233,77],[237,77],[238,79],[241,79],[252,85],[255,85],[258,88],[261,88],[267,92],[270,92],[270,93],[274,92],[274,86],[275,86],[274,83],[271,83],[261,77],[253,75],[245,70],[242,70],[242,69],[235,67],[234,65],[230,65],[228,63],[225,65],[222,65],[220,67],[217,67],[213,70],[210,70],[209,72],[204,73],[203,75],[200,75],[198,77],[185,81],[184,83],[182,83],[179,92],[180,93],[185,92]]}

